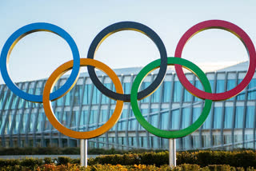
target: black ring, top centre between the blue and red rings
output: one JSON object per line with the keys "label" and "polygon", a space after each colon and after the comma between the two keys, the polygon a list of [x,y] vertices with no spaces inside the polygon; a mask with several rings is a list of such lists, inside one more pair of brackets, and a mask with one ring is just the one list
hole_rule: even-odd
{"label": "black ring, top centre between the blue and red rings", "polygon": [[[154,92],[154,89],[158,88],[158,85],[161,84],[163,81],[166,70],[167,70],[167,53],[166,48],[161,40],[159,38],[158,34],[154,32],[154,30],[151,30],[148,26],[142,25],[138,22],[117,22],[113,25],[107,26],[105,29],[103,29],[98,35],[94,38],[94,41],[91,42],[90,48],[88,50],[87,58],[94,59],[94,54],[96,53],[96,50],[98,49],[98,46],[101,45],[103,40],[107,37],[109,37],[111,34],[114,34],[118,31],[122,30],[135,30],[138,32],[141,32],[142,34],[145,34],[148,38],[150,38],[154,44],[158,47],[160,57],[161,57],[161,65],[160,70],[158,72],[157,77],[154,79],[154,82],[150,84],[146,89],[143,89],[141,92],[138,93],[138,100],[149,96],[152,92]],[[130,101],[130,94],[121,94],[121,93],[115,93],[110,89],[107,89],[105,85],[102,84],[98,80],[98,77],[95,73],[94,66],[88,66],[87,67],[88,73],[90,75],[91,81],[94,83],[94,85],[107,97],[110,97],[114,100],[119,101]]]}

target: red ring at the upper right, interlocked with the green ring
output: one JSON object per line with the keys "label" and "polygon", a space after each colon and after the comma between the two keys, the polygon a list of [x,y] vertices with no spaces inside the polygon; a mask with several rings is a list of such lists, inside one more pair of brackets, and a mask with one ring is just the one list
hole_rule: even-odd
{"label": "red ring at the upper right, interlocked with the green ring", "polygon": [[200,22],[195,26],[192,26],[189,30],[186,31],[185,34],[183,34],[182,38],[178,42],[178,46],[175,50],[175,57],[181,58],[182,57],[182,50],[188,42],[190,38],[192,38],[195,34],[198,34],[202,30],[208,30],[208,29],[222,29],[227,30],[230,33],[237,36],[244,46],[246,46],[246,50],[249,54],[250,58],[250,65],[249,69],[246,73],[246,77],[238,84],[234,89],[230,89],[229,91],[226,91],[224,93],[206,93],[198,88],[196,88],[194,85],[192,85],[186,78],[182,66],[175,65],[175,70],[177,72],[177,76],[179,78],[179,81],[182,82],[182,85],[185,86],[185,88],[194,96],[200,97],[202,99],[210,99],[213,101],[221,101],[226,100],[231,97],[234,97],[238,95],[238,93],[242,92],[243,89],[246,88],[246,86],[250,83],[250,80],[254,76],[255,68],[256,68],[256,53],[253,42],[250,40],[249,36],[246,34],[245,31],[243,31],[238,26],[232,24],[231,22],[226,22],[222,20],[209,20],[205,22]]}

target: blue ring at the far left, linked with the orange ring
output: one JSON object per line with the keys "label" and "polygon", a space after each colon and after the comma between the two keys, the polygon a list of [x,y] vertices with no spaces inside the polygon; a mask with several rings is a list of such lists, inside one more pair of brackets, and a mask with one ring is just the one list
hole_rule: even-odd
{"label": "blue ring at the far left, linked with the orange ring", "polygon": [[50,100],[52,101],[54,99],[57,99],[58,97],[62,97],[66,93],[66,91],[70,89],[70,87],[74,84],[74,82],[78,78],[78,74],[80,70],[80,56],[79,56],[78,47],[75,44],[73,38],[71,38],[70,34],[68,34],[65,30],[62,30],[62,28],[50,23],[37,22],[37,23],[32,23],[32,24],[23,26],[22,28],[15,31],[14,34],[12,34],[10,38],[8,38],[8,40],[6,41],[5,45],[2,48],[2,53],[0,56],[0,70],[1,70],[2,78],[4,82],[6,82],[6,85],[8,86],[8,88],[13,93],[18,95],[18,97],[22,97],[27,101],[42,102],[42,95],[25,93],[21,89],[18,89],[18,86],[15,85],[14,82],[12,82],[12,80],[10,79],[10,75],[7,70],[9,65],[8,58],[10,57],[10,52],[15,46],[15,44],[21,38],[25,37],[27,34],[31,34],[38,31],[48,31],[64,38],[64,40],[69,44],[73,54],[74,66],[70,74],[70,78],[67,79],[66,83],[62,85],[61,88],[59,88],[57,91],[53,93],[50,93]]}

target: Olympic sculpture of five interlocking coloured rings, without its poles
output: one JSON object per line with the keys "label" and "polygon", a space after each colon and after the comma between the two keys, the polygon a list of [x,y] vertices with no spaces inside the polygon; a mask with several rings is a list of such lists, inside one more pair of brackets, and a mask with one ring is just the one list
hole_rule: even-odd
{"label": "Olympic sculpture of five interlocking coloured rings, without its poles", "polygon": [[[227,30],[230,33],[237,36],[246,47],[246,50],[249,54],[250,58],[250,65],[249,69],[246,73],[246,77],[240,82],[234,89],[230,89],[224,93],[212,93],[210,88],[210,82],[206,77],[206,74],[203,73],[198,66],[194,65],[194,63],[187,61],[186,59],[182,59],[182,50],[186,45],[186,42],[193,37],[195,34],[198,34],[202,30],[208,29],[222,29]],[[154,62],[150,62],[147,66],[145,66],[136,76],[134,83],[131,87],[130,94],[124,94],[122,90],[122,84],[118,79],[118,76],[114,73],[113,70],[110,69],[109,66],[106,66],[102,62],[98,62],[94,59],[94,54],[100,44],[111,34],[114,34],[118,31],[122,30],[135,30],[142,34],[145,34],[148,38],[150,38],[154,44],[158,47],[160,53],[160,59],[155,60]],[[58,34],[60,37],[64,38],[66,42],[69,44],[70,49],[73,54],[73,60],[62,64],[54,73],[50,75],[48,80],[46,81],[46,85],[44,87],[42,95],[34,95],[30,93],[23,92],[21,89],[18,89],[17,85],[12,82],[10,75],[8,73],[8,66],[9,66],[9,58],[11,50],[14,48],[16,43],[25,37],[27,34],[31,34],[37,31],[48,31],[54,34]],[[177,130],[177,131],[169,131],[169,130],[162,130],[150,125],[149,122],[142,116],[140,109],[138,108],[138,100],[141,100],[145,97],[150,96],[150,94],[154,93],[154,91],[161,85],[163,79],[166,75],[167,66],[174,65],[175,70],[177,72],[177,76],[182,83],[182,85],[194,96],[202,98],[205,100],[205,106],[202,109],[202,113],[200,117],[190,126],[185,129]],[[66,128],[62,123],[58,121],[58,119],[54,116],[54,112],[51,108],[50,101],[54,101],[66,93],[70,91],[75,85],[78,80],[78,74],[80,66],[87,66],[88,73],[90,75],[90,79],[94,83],[94,85],[107,97],[110,97],[117,101],[116,107],[114,109],[114,113],[110,117],[108,121],[101,127],[87,131],[87,132],[78,132],[71,129]],[[94,68],[98,68],[105,72],[112,82],[114,82],[114,86],[116,92],[106,88],[98,80],[98,77],[95,73]],[[183,73],[182,67],[185,67],[187,70],[193,72],[198,79],[202,82],[204,87],[204,91],[197,89],[192,85],[186,78],[185,74]],[[138,89],[143,81],[146,78],[147,74],[150,74],[152,70],[159,68],[159,72],[157,77],[155,78],[154,82],[152,82],[146,89],[143,89],[141,92],[138,92]],[[176,47],[174,57],[167,57],[166,48],[159,38],[158,34],[151,30],[148,26],[142,25],[138,22],[118,22],[114,23],[113,25],[107,26],[104,30],[102,30],[90,44],[90,48],[87,54],[87,58],[80,58],[78,47],[76,46],[73,38],[71,38],[70,34],[66,33],[65,30],[58,26],[54,26],[49,23],[33,23],[22,28],[18,29],[7,39],[5,45],[3,46],[2,53],[0,56],[0,70],[2,74],[2,78],[8,88],[13,91],[19,97],[26,99],[27,101],[34,101],[43,103],[43,107],[46,113],[46,117],[48,117],[50,123],[54,126],[55,129],[58,129],[59,132],[65,134],[68,137],[74,137],[78,139],[89,139],[92,137],[98,137],[103,133],[106,133],[109,129],[111,129],[116,122],[118,121],[119,117],[122,113],[122,107],[124,101],[130,101],[132,109],[134,111],[134,115],[137,118],[138,122],[150,133],[158,137],[166,137],[166,138],[177,138],[177,137],[185,137],[186,135],[193,133],[196,129],[198,129],[210,113],[210,108],[212,105],[212,101],[222,101],[229,99],[238,95],[238,93],[242,92],[243,89],[250,83],[250,80],[254,76],[256,68],[256,52],[254,48],[253,42],[250,40],[249,36],[244,32],[241,28],[234,25],[233,23],[222,21],[222,20],[209,20],[205,22],[200,22],[195,26],[192,26],[190,30],[187,30],[185,34],[183,34],[182,38],[178,42],[178,46]],[[66,83],[62,85],[62,87],[55,92],[52,92],[54,88],[54,84],[58,81],[58,79],[65,74],[67,70],[71,70],[70,77],[67,79]]]}

